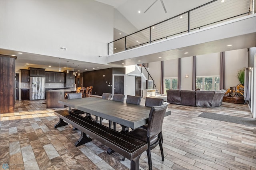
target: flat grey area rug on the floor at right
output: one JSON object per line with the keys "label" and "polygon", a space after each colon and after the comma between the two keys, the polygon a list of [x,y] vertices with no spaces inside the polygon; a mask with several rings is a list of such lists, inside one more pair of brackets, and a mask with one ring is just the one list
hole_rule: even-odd
{"label": "flat grey area rug on the floor at right", "polygon": [[256,127],[256,120],[253,118],[228,116],[228,115],[221,115],[221,114],[208,113],[208,112],[203,112],[198,117]]}

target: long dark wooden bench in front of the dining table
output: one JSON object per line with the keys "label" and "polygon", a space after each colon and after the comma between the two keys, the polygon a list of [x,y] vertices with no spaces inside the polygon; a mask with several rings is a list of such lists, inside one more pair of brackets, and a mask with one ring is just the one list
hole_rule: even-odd
{"label": "long dark wooden bench in front of the dining table", "polygon": [[76,146],[91,141],[91,139],[86,136],[86,134],[88,134],[90,137],[102,142],[102,144],[131,160],[131,170],[139,170],[140,155],[147,150],[148,147],[146,142],[142,142],[136,138],[100,125],[99,123],[76,115],[68,110],[55,111],[54,114],[60,117],[59,123],[54,126],[55,128],[67,125],[64,122],[66,121],[81,130],[82,134],[80,139],[76,142]]}

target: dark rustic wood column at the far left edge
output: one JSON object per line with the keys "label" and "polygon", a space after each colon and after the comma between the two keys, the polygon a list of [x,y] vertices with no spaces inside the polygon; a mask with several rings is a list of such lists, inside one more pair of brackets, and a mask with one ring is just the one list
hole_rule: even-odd
{"label": "dark rustic wood column at the far left edge", "polygon": [[17,57],[0,55],[0,112],[14,113],[15,60]]}

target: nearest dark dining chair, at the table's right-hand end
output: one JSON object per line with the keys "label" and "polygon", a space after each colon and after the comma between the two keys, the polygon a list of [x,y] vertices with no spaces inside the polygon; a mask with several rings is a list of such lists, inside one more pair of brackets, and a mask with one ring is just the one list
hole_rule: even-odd
{"label": "nearest dark dining chair, at the table's right-hand end", "polygon": [[161,131],[167,107],[167,103],[161,106],[153,106],[148,117],[148,128],[144,129],[139,127],[127,133],[129,136],[148,143],[147,156],[149,170],[152,170],[151,150],[158,146],[158,144],[161,151],[162,161],[164,161]]}

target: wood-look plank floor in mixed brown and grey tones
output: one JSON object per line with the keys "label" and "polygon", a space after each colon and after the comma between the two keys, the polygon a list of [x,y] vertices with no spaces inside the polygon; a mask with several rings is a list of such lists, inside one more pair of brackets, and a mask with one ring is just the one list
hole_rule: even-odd
{"label": "wood-look plank floor in mixed brown and grey tones", "polygon": [[[130,168],[118,153],[108,155],[96,140],[79,147],[80,131],[72,126],[54,128],[58,117],[46,101],[17,101],[15,113],[1,114],[0,168],[10,169],[116,169]],[[145,100],[142,99],[141,105]],[[256,170],[256,127],[198,117],[202,112],[251,118],[248,105],[223,102],[220,107],[169,104],[164,118],[164,162],[159,147],[153,149],[153,169]],[[104,120],[105,125],[108,121]],[[118,126],[120,128],[120,126]],[[148,169],[146,152],[140,169]]]}

